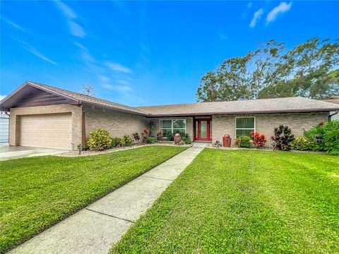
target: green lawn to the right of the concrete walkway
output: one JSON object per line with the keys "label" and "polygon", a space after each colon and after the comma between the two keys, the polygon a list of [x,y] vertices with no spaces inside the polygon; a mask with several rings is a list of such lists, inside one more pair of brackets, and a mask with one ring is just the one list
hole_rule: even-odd
{"label": "green lawn to the right of the concrete walkway", "polygon": [[339,157],[205,149],[112,253],[339,253]]}

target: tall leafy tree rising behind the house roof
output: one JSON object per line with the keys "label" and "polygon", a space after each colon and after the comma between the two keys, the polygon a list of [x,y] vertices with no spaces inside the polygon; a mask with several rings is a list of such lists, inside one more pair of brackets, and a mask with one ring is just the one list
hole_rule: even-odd
{"label": "tall leafy tree rising behind the house roof", "polygon": [[304,96],[323,99],[339,94],[338,40],[307,40],[291,50],[270,40],[244,57],[225,60],[201,78],[198,101],[213,102]]}

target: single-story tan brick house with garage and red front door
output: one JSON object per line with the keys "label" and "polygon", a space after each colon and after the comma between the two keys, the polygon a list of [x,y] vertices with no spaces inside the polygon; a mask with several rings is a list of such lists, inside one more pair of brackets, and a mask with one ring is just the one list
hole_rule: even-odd
{"label": "single-story tan brick house with garage and red front door", "polygon": [[9,145],[67,150],[86,147],[90,131],[97,128],[121,137],[141,133],[150,121],[155,133],[185,131],[197,142],[214,143],[225,134],[234,140],[258,131],[270,145],[273,128],[280,124],[299,136],[339,111],[339,104],[304,97],[129,107],[30,81],[0,107],[10,111]]}

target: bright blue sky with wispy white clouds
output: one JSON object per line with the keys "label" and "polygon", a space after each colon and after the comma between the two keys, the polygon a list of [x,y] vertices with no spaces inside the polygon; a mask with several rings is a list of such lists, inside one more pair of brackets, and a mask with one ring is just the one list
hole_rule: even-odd
{"label": "bright blue sky with wispy white clouds", "polygon": [[201,77],[275,39],[338,38],[339,1],[1,1],[1,90],[25,80],[137,105],[196,101]]}

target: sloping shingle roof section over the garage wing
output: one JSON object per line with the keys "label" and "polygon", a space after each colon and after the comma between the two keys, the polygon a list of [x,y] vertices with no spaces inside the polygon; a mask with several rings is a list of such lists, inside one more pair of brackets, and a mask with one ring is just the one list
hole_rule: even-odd
{"label": "sloping shingle roof section over the garage wing", "polygon": [[98,106],[102,106],[102,107],[109,107],[112,109],[117,109],[117,110],[122,110],[122,111],[130,111],[131,113],[136,113],[136,114],[147,114],[144,111],[141,111],[141,109],[137,109],[137,108],[133,108],[133,107],[129,107],[123,104],[118,104],[115,102],[109,102],[105,99],[99,99],[93,96],[88,96],[88,95],[83,95],[81,93],[78,92],[71,92],[68,90],[64,90],[61,88],[57,88],[57,87],[52,87],[50,85],[44,85],[44,84],[40,84],[40,83],[36,83],[36,82],[27,82],[28,84],[33,84],[33,85],[37,85],[38,87],[44,87],[47,90],[52,90],[54,92],[57,92],[61,95],[65,95],[66,97],[71,97],[73,99],[78,100],[81,103],[88,103],[88,104],[97,104]]}

